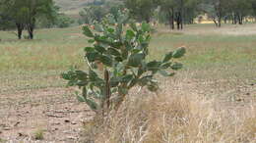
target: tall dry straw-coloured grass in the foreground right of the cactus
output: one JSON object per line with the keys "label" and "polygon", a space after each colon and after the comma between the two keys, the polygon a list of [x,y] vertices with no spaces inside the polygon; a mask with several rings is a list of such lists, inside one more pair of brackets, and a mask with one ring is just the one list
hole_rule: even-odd
{"label": "tall dry straw-coloured grass in the foreground right of the cactus", "polygon": [[[86,143],[252,143],[256,110],[216,108],[199,96],[133,97],[117,115],[85,123]],[[222,109],[222,110],[218,110]]]}

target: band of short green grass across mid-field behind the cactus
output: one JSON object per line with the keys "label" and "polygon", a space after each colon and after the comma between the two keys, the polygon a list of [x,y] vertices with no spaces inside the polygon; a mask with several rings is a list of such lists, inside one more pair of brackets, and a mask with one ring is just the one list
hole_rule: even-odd
{"label": "band of short green grass across mid-field behind the cactus", "polygon": [[[246,27],[250,25],[254,26]],[[209,32],[214,29],[211,24],[189,25],[184,31],[160,27],[150,45],[151,59],[160,59],[160,55],[185,46],[188,52],[181,59],[184,71],[201,71],[197,77],[252,79],[256,76],[255,35],[191,34],[191,30],[202,28]],[[224,30],[228,30],[227,25]],[[86,68],[83,57],[88,42],[81,27],[37,29],[34,40],[17,40],[10,31],[0,31],[0,35],[0,93],[63,87],[61,71],[72,65]]]}

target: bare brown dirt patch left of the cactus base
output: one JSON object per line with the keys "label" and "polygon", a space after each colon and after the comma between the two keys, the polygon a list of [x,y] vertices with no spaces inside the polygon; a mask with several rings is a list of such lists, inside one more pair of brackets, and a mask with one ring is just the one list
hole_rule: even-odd
{"label": "bare brown dirt patch left of the cactus base", "polygon": [[34,141],[36,132],[42,131],[43,141],[76,142],[83,120],[93,113],[70,95],[62,88],[1,95],[0,138]]}

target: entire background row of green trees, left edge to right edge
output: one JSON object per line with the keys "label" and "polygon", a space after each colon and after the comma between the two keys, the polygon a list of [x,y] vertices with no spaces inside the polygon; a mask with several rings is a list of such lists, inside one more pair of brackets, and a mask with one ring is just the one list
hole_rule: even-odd
{"label": "entire background row of green trees, left edge to right edge", "polygon": [[[129,19],[138,23],[168,24],[182,29],[195,18],[207,14],[216,26],[256,21],[256,0],[94,0],[79,13],[78,24],[101,22],[106,15],[117,19],[128,10]],[[67,27],[74,21],[59,12],[53,0],[0,0],[0,30],[17,29],[21,39],[27,30],[33,38],[35,27]]]}

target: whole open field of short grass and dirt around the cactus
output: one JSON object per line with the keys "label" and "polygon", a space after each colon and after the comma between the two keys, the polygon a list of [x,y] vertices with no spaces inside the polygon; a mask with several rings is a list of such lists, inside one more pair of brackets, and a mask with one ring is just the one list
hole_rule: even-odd
{"label": "whole open field of short grass and dirt around the cactus", "polygon": [[[254,109],[255,27],[195,24],[170,31],[160,25],[150,45],[152,59],[180,46],[188,50],[182,59],[185,68],[163,81],[162,93],[205,97],[214,100],[216,110]],[[0,142],[28,139],[39,131],[47,141],[78,140],[81,119],[92,113],[77,103],[74,90],[65,88],[60,73],[74,65],[86,69],[83,47],[88,43],[81,27],[37,29],[34,40],[17,40],[12,32],[0,31],[0,39]],[[252,113],[251,123],[256,124],[256,111]],[[252,137],[246,136],[249,141],[255,138],[254,127]]]}

